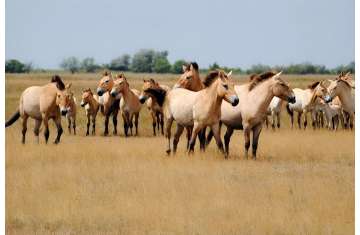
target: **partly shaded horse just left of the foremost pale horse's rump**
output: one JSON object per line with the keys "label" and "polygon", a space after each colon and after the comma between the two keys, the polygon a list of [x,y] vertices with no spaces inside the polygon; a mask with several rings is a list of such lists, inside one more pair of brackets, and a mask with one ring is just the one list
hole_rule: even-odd
{"label": "partly shaded horse just left of the foremost pale horse's rump", "polygon": [[[159,85],[154,79],[144,80],[141,94],[139,96],[140,103],[145,103],[152,118],[152,126],[154,136],[156,136],[156,124],[159,131],[161,127],[161,134],[164,134],[164,113],[162,109],[163,100],[159,100],[156,95],[156,90],[162,89],[164,92],[170,90],[166,85]],[[160,98],[161,99],[161,98]]]}

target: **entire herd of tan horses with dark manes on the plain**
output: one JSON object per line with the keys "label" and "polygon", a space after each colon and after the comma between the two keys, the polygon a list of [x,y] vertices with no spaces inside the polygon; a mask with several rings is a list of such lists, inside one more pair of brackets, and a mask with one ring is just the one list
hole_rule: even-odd
{"label": "entire herd of tan horses with dark manes on the plain", "polygon": [[[109,134],[109,119],[112,117],[113,133],[117,134],[117,116],[120,111],[125,136],[138,134],[139,113],[144,103],[152,117],[153,135],[161,130],[166,141],[166,152],[176,153],[183,131],[186,130],[187,150],[194,151],[196,139],[200,150],[214,137],[218,149],[225,158],[229,154],[229,143],[234,130],[243,130],[245,157],[250,148],[252,132],[252,156],[256,151],[262,125],[268,126],[268,116],[272,118],[272,127],[280,127],[280,112],[283,103],[294,125],[294,113],[298,113],[298,127],[306,128],[307,114],[311,114],[313,128],[326,125],[336,130],[339,123],[343,128],[353,128],[354,81],[350,73],[341,73],[334,80],[312,83],[307,89],[290,88],[281,79],[281,72],[272,71],[250,76],[247,83],[234,85],[231,72],[211,71],[200,78],[197,63],[183,66],[183,74],[170,88],[155,80],[144,80],[141,91],[131,89],[124,74],[115,77],[105,71],[99,81],[96,94],[90,88],[83,90],[81,106],[87,117],[86,135],[95,134],[97,113],[105,117],[104,135]],[[223,102],[224,101],[224,102]],[[76,134],[76,99],[71,84],[65,85],[58,75],[44,86],[32,86],[21,94],[19,108],[5,123],[5,127],[22,118],[22,143],[25,143],[27,120],[35,119],[34,134],[39,141],[39,130],[44,123],[44,137],[49,139],[49,120],[53,119],[57,127],[54,143],[59,143],[63,129],[61,115],[68,119],[69,132]],[[302,118],[304,118],[302,122]],[[171,127],[176,122],[176,131],[171,144]],[[164,127],[165,124],[165,127]],[[221,126],[226,127],[224,144],[220,136]],[[135,129],[133,130],[133,127]],[[206,129],[210,128],[206,135]]]}

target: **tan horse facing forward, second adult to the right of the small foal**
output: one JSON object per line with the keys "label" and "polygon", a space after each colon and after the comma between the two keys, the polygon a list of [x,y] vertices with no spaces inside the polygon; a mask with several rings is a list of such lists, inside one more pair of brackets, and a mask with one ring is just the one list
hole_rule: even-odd
{"label": "tan horse facing forward, second adult to the right of the small foal", "polygon": [[114,81],[110,94],[114,98],[121,94],[120,112],[124,120],[125,136],[128,136],[129,128],[130,135],[133,135],[133,121],[135,124],[135,135],[137,135],[139,114],[142,107],[139,100],[140,92],[136,89],[130,89],[126,77],[123,74],[119,74]]}

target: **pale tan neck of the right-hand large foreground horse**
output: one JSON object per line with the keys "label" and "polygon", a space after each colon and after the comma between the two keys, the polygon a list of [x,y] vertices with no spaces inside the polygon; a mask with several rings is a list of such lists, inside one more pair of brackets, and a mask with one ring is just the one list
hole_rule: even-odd
{"label": "pale tan neck of the right-hand large foreground horse", "polygon": [[255,102],[253,103],[254,107],[257,107],[257,110],[264,111],[268,109],[271,100],[274,98],[274,94],[271,91],[273,86],[273,81],[271,79],[267,81],[263,81],[254,90],[250,91],[250,94],[255,96],[253,99]]}

